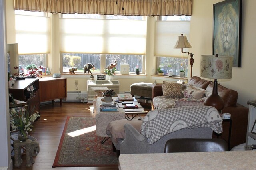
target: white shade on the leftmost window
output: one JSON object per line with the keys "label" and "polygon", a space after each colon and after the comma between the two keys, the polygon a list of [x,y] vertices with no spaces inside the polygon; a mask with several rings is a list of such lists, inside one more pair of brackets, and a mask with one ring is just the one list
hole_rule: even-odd
{"label": "white shade on the leftmost window", "polygon": [[15,15],[19,54],[50,53],[50,18]]}

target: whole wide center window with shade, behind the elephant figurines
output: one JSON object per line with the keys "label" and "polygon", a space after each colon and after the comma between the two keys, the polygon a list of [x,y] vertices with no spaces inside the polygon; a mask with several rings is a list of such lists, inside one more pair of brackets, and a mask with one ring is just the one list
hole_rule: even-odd
{"label": "whole wide center window with shade, behind the elephant figurines", "polygon": [[70,67],[83,73],[86,63],[94,63],[94,73],[104,73],[115,60],[116,73],[120,63],[128,63],[130,73],[135,73],[135,67],[144,73],[146,26],[144,16],[60,14],[62,73]]}

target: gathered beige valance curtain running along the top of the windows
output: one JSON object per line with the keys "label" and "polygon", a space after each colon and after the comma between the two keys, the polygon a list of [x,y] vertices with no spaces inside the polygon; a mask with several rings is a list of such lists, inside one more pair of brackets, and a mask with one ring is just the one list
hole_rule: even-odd
{"label": "gathered beige valance curtain running along the top of the windows", "polygon": [[191,15],[192,0],[14,0],[14,10],[69,14]]}

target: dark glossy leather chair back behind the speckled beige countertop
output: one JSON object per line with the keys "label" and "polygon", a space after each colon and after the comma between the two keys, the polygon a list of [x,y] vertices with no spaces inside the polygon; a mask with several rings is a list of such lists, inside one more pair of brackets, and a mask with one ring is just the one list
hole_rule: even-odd
{"label": "dark glossy leather chair back behind the speckled beige countertop", "polygon": [[170,139],[164,148],[164,153],[221,151],[228,151],[228,144],[222,139]]}

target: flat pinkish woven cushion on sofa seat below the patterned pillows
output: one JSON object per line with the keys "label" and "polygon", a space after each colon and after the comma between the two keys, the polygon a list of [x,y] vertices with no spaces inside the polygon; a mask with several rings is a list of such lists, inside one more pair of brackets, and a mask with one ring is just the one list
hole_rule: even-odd
{"label": "flat pinkish woven cushion on sofa seat below the patterned pillows", "polygon": [[189,98],[182,98],[175,101],[174,108],[182,107],[182,106],[202,106],[204,105],[204,100],[206,97],[201,99],[189,99]]}

